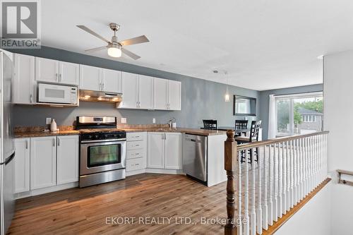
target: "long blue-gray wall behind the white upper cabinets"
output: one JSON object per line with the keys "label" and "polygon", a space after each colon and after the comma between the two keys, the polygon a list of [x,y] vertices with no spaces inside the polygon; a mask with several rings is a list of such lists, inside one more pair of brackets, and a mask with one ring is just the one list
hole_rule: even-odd
{"label": "long blue-gray wall behind the white upper cabinets", "polygon": [[[225,102],[224,95],[226,85],[215,83],[208,80],[182,76],[177,73],[159,71],[152,68],[134,66],[132,64],[121,63],[108,59],[102,59],[95,56],[87,56],[68,52],[51,47],[42,47],[42,49],[20,49],[12,50],[20,54],[30,54],[48,59],[58,59],[78,64],[98,66],[102,68],[116,69],[131,73],[154,76],[158,78],[167,78],[170,80],[181,81],[181,111],[147,111],[132,109],[116,109],[114,104],[104,104],[96,102],[80,102],[80,107],[76,108],[54,108],[54,107],[31,107],[25,105],[16,105],[14,107],[15,126],[43,126],[45,118],[56,119],[59,125],[71,125],[80,115],[105,115],[126,117],[127,122],[131,124],[152,123],[152,118],[157,123],[167,123],[171,117],[177,119],[177,126],[198,128],[202,126],[202,119],[217,119],[219,126],[234,126],[233,102]],[[229,94],[244,95],[248,97],[259,97],[259,92],[229,86]],[[259,99],[258,99],[259,100]],[[259,112],[259,102],[257,104],[257,113]],[[239,117],[244,119],[244,117]],[[256,117],[249,117],[249,120]]]}

